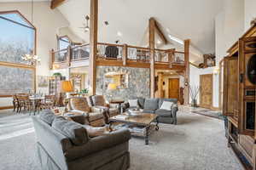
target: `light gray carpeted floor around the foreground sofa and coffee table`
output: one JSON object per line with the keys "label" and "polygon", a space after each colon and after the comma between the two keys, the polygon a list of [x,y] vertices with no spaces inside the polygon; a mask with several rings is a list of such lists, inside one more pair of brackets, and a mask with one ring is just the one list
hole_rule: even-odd
{"label": "light gray carpeted floor around the foreground sofa and coffee table", "polygon": [[[130,141],[130,170],[240,170],[224,137],[224,122],[178,112],[177,126],[160,124],[149,145]],[[0,170],[40,170],[30,116],[0,112]]]}

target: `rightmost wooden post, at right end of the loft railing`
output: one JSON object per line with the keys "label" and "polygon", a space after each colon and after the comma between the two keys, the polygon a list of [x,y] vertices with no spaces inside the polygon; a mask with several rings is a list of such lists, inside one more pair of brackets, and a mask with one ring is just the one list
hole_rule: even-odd
{"label": "rightmost wooden post, at right end of the loft railing", "polygon": [[184,105],[189,105],[189,43],[189,39],[184,41],[184,61],[186,69],[184,79],[187,83],[187,86],[184,88]]}

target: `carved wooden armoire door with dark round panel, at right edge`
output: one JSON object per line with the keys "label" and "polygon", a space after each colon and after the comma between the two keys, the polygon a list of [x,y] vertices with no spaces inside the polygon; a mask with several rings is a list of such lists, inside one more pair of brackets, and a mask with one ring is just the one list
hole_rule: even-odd
{"label": "carved wooden armoire door with dark round panel, at right edge", "polygon": [[256,37],[239,40],[239,133],[255,133]]}

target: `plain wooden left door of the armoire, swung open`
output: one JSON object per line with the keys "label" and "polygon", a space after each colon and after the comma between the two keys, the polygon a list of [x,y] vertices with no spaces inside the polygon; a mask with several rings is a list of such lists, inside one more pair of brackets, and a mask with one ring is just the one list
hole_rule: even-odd
{"label": "plain wooden left door of the armoire, swung open", "polygon": [[223,114],[238,121],[238,57],[224,58]]}

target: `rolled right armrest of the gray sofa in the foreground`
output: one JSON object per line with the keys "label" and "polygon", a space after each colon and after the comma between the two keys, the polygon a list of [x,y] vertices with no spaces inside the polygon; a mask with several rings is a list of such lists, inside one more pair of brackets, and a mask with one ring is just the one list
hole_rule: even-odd
{"label": "rolled right armrest of the gray sofa in the foreground", "polygon": [[123,144],[131,139],[128,129],[120,129],[113,133],[108,133],[96,138],[92,138],[84,145],[75,146],[65,153],[67,161],[89,156],[90,154],[112,148],[118,144]]}

